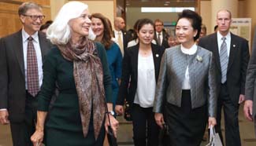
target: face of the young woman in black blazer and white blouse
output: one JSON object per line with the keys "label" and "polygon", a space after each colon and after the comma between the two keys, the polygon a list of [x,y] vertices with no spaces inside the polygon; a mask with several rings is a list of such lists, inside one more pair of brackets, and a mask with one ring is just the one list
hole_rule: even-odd
{"label": "face of the young woman in black blazer and white blouse", "polygon": [[144,24],[137,33],[139,43],[148,45],[154,38],[154,26],[152,24]]}

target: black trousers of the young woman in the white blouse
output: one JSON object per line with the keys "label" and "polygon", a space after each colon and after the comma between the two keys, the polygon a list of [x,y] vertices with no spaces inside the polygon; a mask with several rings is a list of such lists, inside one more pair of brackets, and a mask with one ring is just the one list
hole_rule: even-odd
{"label": "black trousers of the young woman in the white blouse", "polygon": [[159,127],[154,120],[153,108],[132,106],[133,141],[135,146],[158,146]]}

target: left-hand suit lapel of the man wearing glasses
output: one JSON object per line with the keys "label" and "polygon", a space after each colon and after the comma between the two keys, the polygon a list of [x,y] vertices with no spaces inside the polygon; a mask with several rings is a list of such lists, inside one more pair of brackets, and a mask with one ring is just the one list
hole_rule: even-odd
{"label": "left-hand suit lapel of the man wearing glasses", "polygon": [[[24,75],[25,73],[25,67],[24,67],[24,54],[23,54],[23,40],[22,40],[22,34],[21,30],[17,32],[17,35],[13,36],[13,51],[17,57],[18,63],[20,64],[20,70],[22,74]],[[25,77],[25,75],[24,75]]]}

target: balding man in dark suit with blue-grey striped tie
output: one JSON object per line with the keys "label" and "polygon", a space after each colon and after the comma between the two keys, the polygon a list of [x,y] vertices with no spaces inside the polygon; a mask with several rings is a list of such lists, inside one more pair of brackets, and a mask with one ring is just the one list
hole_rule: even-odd
{"label": "balding man in dark suit with blue-grey striped tie", "polygon": [[209,49],[215,56],[217,66],[217,126],[221,134],[221,108],[224,108],[226,146],[241,145],[239,136],[239,104],[244,100],[244,89],[249,60],[246,39],[233,35],[230,31],[232,15],[228,10],[217,13],[218,31],[200,38],[198,46]]}

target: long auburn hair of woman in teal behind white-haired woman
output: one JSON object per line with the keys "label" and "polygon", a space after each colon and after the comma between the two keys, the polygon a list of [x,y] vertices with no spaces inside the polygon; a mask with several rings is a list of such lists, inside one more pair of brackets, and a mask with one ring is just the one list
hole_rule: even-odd
{"label": "long auburn hair of woman in teal behind white-haired woman", "polygon": [[113,41],[111,40],[111,30],[109,27],[108,20],[101,13],[93,13],[93,14],[91,14],[91,18],[98,18],[102,21],[104,30],[103,30],[103,36],[102,36],[101,43],[105,46],[105,49],[109,49],[109,47],[112,45]]}

